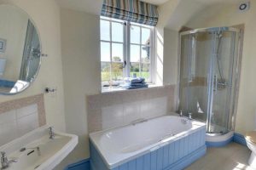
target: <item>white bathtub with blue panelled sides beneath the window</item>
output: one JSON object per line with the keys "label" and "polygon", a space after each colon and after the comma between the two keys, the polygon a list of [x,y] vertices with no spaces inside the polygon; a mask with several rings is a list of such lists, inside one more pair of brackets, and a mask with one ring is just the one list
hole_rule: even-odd
{"label": "white bathtub with blue panelled sides beneath the window", "polygon": [[160,116],[90,133],[90,164],[93,170],[180,169],[206,153],[205,140],[205,123]]}

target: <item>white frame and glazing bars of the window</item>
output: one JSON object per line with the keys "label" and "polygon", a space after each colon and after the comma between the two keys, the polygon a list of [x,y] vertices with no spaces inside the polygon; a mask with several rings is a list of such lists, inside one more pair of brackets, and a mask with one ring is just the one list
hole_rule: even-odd
{"label": "white frame and glazing bars of the window", "polygon": [[[124,77],[132,77],[132,75],[130,75],[130,70],[131,70],[131,45],[137,45],[140,46],[140,65],[139,65],[139,70],[141,72],[141,64],[143,64],[142,62],[142,47],[143,46],[147,46],[147,45],[143,45],[142,43],[142,29],[143,28],[147,28],[150,30],[150,52],[149,52],[149,59],[150,59],[150,68],[149,68],[149,78],[148,78],[148,83],[154,83],[153,80],[153,72],[154,72],[154,26],[146,26],[146,25],[141,25],[141,24],[137,24],[134,22],[130,22],[130,21],[125,21],[125,20],[116,20],[116,19],[112,19],[112,18],[108,18],[108,17],[102,17],[100,20],[105,20],[105,21],[109,21],[109,41],[106,40],[102,40],[101,42],[108,42],[110,44],[110,64],[113,63],[113,59],[112,59],[112,52],[113,52],[113,48],[112,48],[112,44],[113,43],[119,43],[119,44],[123,44],[123,61],[120,61],[119,63],[125,63],[125,68],[123,69],[123,76]],[[124,29],[124,37],[123,37],[123,41],[124,42],[113,42],[112,41],[112,23],[119,23],[123,25],[123,29]],[[139,26],[140,27],[140,43],[131,43],[131,26]],[[103,62],[101,60],[101,62]],[[118,62],[116,62],[118,63]],[[112,79],[112,67],[110,67],[110,78]]]}

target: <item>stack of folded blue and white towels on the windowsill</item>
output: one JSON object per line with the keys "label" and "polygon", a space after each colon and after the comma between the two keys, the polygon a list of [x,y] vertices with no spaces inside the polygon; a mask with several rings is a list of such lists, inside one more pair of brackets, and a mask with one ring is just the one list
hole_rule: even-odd
{"label": "stack of folded blue and white towels on the windowsill", "polygon": [[120,86],[126,89],[148,88],[148,84],[145,82],[145,78],[143,77],[126,77],[125,84]]}

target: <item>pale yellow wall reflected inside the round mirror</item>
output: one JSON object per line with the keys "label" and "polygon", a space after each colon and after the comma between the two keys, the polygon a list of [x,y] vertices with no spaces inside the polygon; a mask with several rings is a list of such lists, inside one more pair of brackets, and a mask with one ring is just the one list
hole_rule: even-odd
{"label": "pale yellow wall reflected inside the round mirror", "polygon": [[0,5],[0,20],[0,38],[7,40],[5,52],[0,53],[0,58],[7,59],[0,78],[16,82],[20,77],[28,15],[20,8]]}

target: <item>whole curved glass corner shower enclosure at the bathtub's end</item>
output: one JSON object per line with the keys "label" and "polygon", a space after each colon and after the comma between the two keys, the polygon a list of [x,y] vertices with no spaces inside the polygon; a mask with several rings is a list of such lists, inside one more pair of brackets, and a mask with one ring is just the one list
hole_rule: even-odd
{"label": "whole curved glass corner shower enclosure at the bathtub's end", "polygon": [[207,133],[234,130],[240,31],[218,27],[180,34],[179,110],[207,123]]}

